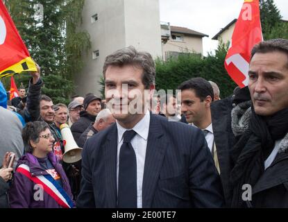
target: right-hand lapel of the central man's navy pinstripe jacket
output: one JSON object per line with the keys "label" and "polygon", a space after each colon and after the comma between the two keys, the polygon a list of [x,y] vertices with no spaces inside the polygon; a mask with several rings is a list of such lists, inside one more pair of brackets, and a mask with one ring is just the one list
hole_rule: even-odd
{"label": "right-hand lapel of the central man's navy pinstripe jacket", "polygon": [[[142,207],[151,207],[167,148],[161,123],[151,114],[142,184]],[[166,141],[165,141],[166,140]]]}

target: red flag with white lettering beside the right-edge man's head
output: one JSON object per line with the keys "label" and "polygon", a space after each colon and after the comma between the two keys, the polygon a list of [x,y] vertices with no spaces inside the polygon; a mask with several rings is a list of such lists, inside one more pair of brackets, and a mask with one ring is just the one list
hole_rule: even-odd
{"label": "red flag with white lettering beside the right-edge man's head", "polygon": [[248,85],[251,50],[262,40],[259,0],[244,0],[224,62],[229,76],[239,87]]}

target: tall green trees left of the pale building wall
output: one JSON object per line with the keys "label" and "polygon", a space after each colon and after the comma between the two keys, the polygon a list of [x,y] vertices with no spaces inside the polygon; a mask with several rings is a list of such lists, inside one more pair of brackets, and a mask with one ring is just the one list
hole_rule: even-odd
{"label": "tall green trees left of the pale building wall", "polygon": [[[84,0],[6,0],[6,6],[31,57],[40,65],[43,94],[54,103],[69,102],[74,75],[83,67],[81,55],[90,48],[90,36],[77,31]],[[40,3],[43,18],[35,16]],[[28,85],[28,75],[15,76]]]}

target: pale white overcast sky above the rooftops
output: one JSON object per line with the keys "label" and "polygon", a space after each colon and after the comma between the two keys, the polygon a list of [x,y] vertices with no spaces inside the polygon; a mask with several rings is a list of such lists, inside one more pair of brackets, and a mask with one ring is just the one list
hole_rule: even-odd
{"label": "pale white overcast sky above the rooftops", "polygon": [[[211,40],[221,28],[239,17],[244,0],[159,0],[160,21],[209,35],[203,37],[203,53],[217,49]],[[274,0],[282,19],[288,20],[288,0]]]}

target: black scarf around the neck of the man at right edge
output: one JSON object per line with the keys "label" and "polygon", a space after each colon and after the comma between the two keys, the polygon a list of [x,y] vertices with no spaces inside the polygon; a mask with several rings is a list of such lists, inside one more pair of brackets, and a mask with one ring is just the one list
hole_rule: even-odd
{"label": "black scarf around the neck of the man at right edge", "polygon": [[244,207],[242,185],[249,184],[253,188],[264,172],[264,161],[273,151],[275,141],[282,139],[288,132],[288,109],[280,110],[269,117],[255,114],[249,128],[232,148],[231,157],[235,164],[230,180],[233,187],[232,207]]}

